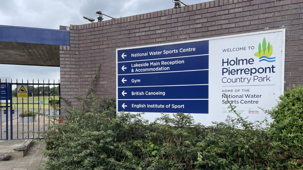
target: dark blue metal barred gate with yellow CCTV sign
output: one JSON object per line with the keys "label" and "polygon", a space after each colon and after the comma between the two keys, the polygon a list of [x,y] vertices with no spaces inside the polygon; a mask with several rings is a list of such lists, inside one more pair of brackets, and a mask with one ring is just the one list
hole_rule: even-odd
{"label": "dark blue metal barred gate with yellow CCTV sign", "polygon": [[0,79],[0,140],[42,138],[60,118],[60,82]]}

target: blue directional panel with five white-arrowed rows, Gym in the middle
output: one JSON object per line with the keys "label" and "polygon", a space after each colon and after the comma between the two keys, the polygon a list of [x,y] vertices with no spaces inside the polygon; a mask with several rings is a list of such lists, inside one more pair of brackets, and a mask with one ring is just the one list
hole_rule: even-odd
{"label": "blue directional panel with five white-arrowed rows, Gym in the middle", "polygon": [[117,49],[117,110],[208,114],[208,40]]}

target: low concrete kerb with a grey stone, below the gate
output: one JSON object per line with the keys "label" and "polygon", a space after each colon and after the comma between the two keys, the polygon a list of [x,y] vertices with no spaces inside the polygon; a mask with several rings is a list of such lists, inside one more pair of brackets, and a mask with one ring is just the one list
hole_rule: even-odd
{"label": "low concrete kerb with a grey stone, below the gate", "polygon": [[[23,158],[29,148],[33,144],[33,139],[22,140],[2,140],[0,141],[0,153],[9,152],[12,155],[11,159]],[[23,151],[15,151],[14,148],[25,145],[27,149]]]}

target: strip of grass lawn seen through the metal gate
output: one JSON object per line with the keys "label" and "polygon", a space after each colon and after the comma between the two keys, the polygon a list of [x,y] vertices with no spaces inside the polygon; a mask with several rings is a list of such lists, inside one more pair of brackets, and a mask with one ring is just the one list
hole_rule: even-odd
{"label": "strip of grass lawn seen through the metal gate", "polygon": [[[55,99],[55,100],[59,100],[58,96],[50,96],[51,99]],[[23,102],[22,102],[23,99]],[[39,99],[39,100],[38,100]],[[13,109],[20,109],[20,110],[24,110],[24,109],[38,109],[40,108],[40,102],[39,101],[43,101],[43,104],[41,104],[41,110],[43,111],[43,108],[45,110],[48,110],[49,108],[49,98],[48,96],[44,97],[29,97],[29,98],[18,98],[18,104],[17,104],[17,97],[13,97],[12,102],[13,102]],[[28,102],[29,101],[29,102]],[[38,104],[39,102],[39,104]],[[33,104],[34,103],[34,104]],[[2,106],[5,106],[5,103],[1,104]],[[9,104],[10,105],[10,104]],[[51,108],[50,108],[51,109]]]}

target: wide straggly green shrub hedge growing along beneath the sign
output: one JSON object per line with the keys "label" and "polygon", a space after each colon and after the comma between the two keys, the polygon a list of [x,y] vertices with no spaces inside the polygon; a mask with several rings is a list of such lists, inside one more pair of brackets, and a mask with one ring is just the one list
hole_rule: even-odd
{"label": "wide straggly green shrub hedge growing along beneath the sign", "polygon": [[69,110],[70,121],[45,132],[45,169],[267,169],[260,122],[238,115],[205,127],[183,113],[148,122],[141,114],[114,116],[114,99],[100,107],[91,97],[89,108]]}

